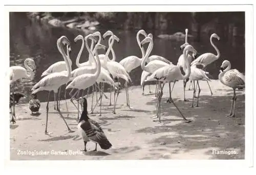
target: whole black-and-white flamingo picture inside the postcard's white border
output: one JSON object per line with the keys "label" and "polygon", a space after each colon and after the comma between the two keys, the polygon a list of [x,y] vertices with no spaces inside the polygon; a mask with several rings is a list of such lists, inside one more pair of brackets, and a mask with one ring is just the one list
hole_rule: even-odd
{"label": "whole black-and-white flamingo picture inside the postcard's white border", "polygon": [[246,10],[88,8],[8,11],[11,161],[245,160]]}

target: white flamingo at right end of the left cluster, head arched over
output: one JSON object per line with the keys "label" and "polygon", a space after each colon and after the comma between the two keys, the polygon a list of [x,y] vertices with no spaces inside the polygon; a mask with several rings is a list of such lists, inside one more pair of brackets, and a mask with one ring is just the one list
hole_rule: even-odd
{"label": "white flamingo at right end of the left cluster, head arched over", "polygon": [[[113,32],[106,31],[103,34],[103,38],[105,38],[108,35],[112,35],[111,37],[113,37]],[[112,48],[113,43],[114,43],[114,39],[112,39],[112,41],[111,41],[110,48]],[[113,78],[117,77],[117,79],[118,78],[122,78],[122,79],[125,80],[126,103],[129,106],[129,108],[131,108],[131,106],[130,106],[130,99],[129,99],[129,93],[128,93],[128,90],[127,90],[127,83],[129,82],[129,80],[130,81],[132,81],[132,80],[131,80],[131,77],[129,76],[129,74],[124,69],[124,67],[119,62],[114,61],[114,59],[115,59],[114,55],[115,54],[113,54],[113,59],[112,60],[108,61],[108,58],[105,57],[104,60],[100,60],[100,62],[101,62],[102,67],[106,68],[111,73]],[[119,86],[117,87],[117,89],[119,89]],[[119,90],[117,90],[117,92],[118,91]],[[116,106],[116,101],[117,101],[117,97],[118,97],[118,95],[117,95],[116,98],[115,98],[115,95],[116,95],[116,92],[114,93],[114,112],[113,112],[114,114],[116,113],[115,112],[115,106]]]}

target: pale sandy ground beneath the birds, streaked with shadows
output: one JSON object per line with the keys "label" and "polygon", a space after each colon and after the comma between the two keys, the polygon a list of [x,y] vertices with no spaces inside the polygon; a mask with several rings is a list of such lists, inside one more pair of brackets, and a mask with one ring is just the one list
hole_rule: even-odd
{"label": "pale sandy ground beneath the birds, streaked with shadows", "polygon": [[[193,91],[186,91],[189,102],[183,101],[183,82],[178,81],[173,90],[173,99],[181,112],[192,122],[185,123],[173,104],[166,103],[168,85],[165,85],[162,98],[161,125],[150,118],[155,114],[156,99],[148,94],[141,94],[140,87],[130,88],[130,102],[133,109],[125,105],[125,92],[121,91],[117,101],[117,114],[110,114],[113,106],[109,100],[102,100],[102,116],[89,117],[101,124],[105,135],[113,147],[103,150],[95,144],[84,148],[80,133],[77,132],[77,113],[68,100],[69,112],[65,101],[61,101],[61,111],[75,133],[68,133],[67,127],[50,102],[48,131],[45,135],[46,103],[41,104],[40,115],[32,116],[28,104],[16,107],[16,124],[10,124],[10,159],[11,160],[126,160],[126,159],[244,159],[245,143],[245,95],[237,92],[236,117],[228,118],[232,98],[232,89],[218,80],[209,82],[214,95],[210,96],[207,83],[202,81],[199,107],[191,105]],[[154,91],[155,86],[151,86]],[[188,89],[188,86],[187,88]],[[47,92],[41,92],[46,93]],[[105,93],[109,96],[109,93]],[[113,101],[113,100],[112,100]],[[91,98],[88,99],[89,106]],[[94,102],[95,103],[95,102]],[[88,107],[90,111],[90,107]],[[98,114],[96,107],[95,114]],[[213,154],[213,150],[232,151],[234,154]],[[27,151],[49,151],[43,155],[24,155]],[[22,154],[23,153],[23,154]]]}

